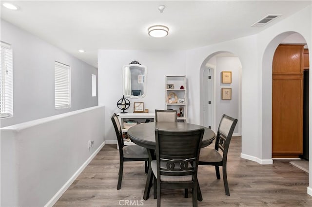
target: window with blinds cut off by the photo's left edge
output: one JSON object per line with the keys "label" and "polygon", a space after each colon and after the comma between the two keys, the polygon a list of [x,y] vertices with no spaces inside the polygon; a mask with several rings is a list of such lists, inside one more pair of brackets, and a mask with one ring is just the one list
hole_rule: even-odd
{"label": "window with blinds cut off by the photo's left edge", "polygon": [[0,42],[0,118],[13,116],[13,51]]}

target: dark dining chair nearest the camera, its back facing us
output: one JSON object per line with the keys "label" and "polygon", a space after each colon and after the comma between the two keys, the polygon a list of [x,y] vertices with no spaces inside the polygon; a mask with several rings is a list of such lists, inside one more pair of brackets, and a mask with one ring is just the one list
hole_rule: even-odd
{"label": "dark dining chair nearest the camera, its back facing us", "polygon": [[151,168],[157,207],[161,189],[192,189],[193,207],[197,207],[197,167],[203,135],[203,128],[181,132],[155,129],[156,160],[152,160]]}

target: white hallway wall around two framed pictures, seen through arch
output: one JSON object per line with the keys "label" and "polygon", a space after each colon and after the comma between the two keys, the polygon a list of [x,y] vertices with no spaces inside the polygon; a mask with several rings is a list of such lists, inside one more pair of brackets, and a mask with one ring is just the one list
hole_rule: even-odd
{"label": "white hallway wall around two framed pictures, seen through arch", "polygon": [[[216,100],[215,100],[215,126],[220,123],[223,114],[226,114],[235,119],[239,118],[239,67],[240,61],[237,57],[216,57],[216,68],[215,68],[215,90],[216,90]],[[222,71],[232,71],[232,83],[222,84],[221,72]],[[232,88],[232,99],[222,100],[221,99],[221,88],[230,87]],[[238,134],[239,125],[237,123],[234,134]]]}

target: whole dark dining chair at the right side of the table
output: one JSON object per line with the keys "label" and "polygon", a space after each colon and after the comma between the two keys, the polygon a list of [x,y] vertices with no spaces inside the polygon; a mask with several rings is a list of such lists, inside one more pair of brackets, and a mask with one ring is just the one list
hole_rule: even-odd
{"label": "whole dark dining chair at the right side of the table", "polygon": [[[205,147],[201,149],[199,156],[199,165],[212,165],[215,166],[216,178],[220,179],[219,166],[222,166],[223,183],[225,194],[230,195],[226,163],[230,146],[230,141],[233,135],[234,128],[236,126],[237,119],[229,117],[225,114],[222,115],[219,128],[215,139],[215,148]],[[222,154],[219,152],[222,151]]]}

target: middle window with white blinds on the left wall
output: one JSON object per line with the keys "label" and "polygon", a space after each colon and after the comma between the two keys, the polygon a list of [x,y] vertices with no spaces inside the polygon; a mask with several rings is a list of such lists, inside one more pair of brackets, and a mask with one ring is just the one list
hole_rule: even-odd
{"label": "middle window with white blinds on the left wall", "polygon": [[70,66],[55,61],[55,108],[71,107]]}

